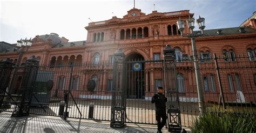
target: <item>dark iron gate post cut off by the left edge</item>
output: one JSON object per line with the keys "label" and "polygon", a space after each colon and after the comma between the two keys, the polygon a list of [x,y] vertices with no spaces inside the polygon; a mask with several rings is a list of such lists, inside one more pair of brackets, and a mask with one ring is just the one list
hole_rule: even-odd
{"label": "dark iron gate post cut off by the left edge", "polygon": [[6,90],[8,89],[8,85],[10,82],[13,64],[14,63],[10,61],[10,58],[6,58],[6,60],[0,62],[0,112],[2,109],[2,105],[4,104],[4,98],[8,97]]}

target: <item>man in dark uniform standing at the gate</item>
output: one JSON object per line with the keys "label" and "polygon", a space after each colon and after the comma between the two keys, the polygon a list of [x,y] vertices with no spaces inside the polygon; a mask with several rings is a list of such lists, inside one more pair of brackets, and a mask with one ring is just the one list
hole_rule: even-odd
{"label": "man in dark uniform standing at the gate", "polygon": [[[167,98],[165,97],[164,88],[159,86],[157,88],[157,93],[151,99],[152,104],[156,104],[156,120],[157,120],[157,132],[161,132],[161,129],[166,123],[166,105]],[[161,120],[162,119],[162,120]]]}

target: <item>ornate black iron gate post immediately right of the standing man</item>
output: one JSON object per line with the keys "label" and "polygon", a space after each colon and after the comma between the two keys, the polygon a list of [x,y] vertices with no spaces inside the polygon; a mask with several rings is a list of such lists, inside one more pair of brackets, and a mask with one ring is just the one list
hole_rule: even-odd
{"label": "ornate black iron gate post immediately right of the standing man", "polygon": [[181,131],[175,50],[170,45],[164,49],[164,78],[167,97],[167,127],[169,132]]}

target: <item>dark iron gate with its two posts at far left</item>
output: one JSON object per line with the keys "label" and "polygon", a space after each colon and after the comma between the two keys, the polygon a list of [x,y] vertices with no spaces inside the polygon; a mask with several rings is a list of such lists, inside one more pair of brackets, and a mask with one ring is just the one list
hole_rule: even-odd
{"label": "dark iron gate with its two posts at far left", "polygon": [[[12,116],[27,116],[31,99],[38,99],[32,93],[35,86],[39,61],[32,56],[20,67],[13,66],[9,58],[0,63],[1,74],[1,111],[12,112]],[[42,105],[41,105],[42,107]]]}

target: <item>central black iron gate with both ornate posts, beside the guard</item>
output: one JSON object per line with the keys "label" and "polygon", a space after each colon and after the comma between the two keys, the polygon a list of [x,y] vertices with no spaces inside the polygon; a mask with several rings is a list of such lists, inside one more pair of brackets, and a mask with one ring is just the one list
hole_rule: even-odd
{"label": "central black iron gate with both ornate posts, beside the guard", "polygon": [[114,54],[111,127],[122,127],[124,122],[156,124],[151,98],[163,86],[167,125],[172,131],[181,128],[174,50],[167,48],[164,55],[164,60],[145,61],[139,54],[125,57],[120,49]]}

